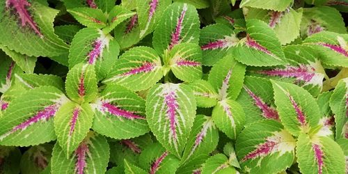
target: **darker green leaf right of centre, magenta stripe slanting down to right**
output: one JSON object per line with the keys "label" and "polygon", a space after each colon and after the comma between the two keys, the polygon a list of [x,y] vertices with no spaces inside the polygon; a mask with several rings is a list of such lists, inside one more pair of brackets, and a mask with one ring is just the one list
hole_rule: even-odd
{"label": "darker green leaf right of centre, magenta stripe slanting down to right", "polygon": [[273,88],[268,79],[246,77],[243,90],[237,98],[246,115],[246,125],[262,119],[279,120],[273,104]]}

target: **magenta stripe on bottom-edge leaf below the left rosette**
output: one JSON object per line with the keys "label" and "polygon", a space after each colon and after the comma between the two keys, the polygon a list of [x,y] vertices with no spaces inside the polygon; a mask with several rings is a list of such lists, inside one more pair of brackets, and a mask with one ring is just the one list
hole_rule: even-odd
{"label": "magenta stripe on bottom-edge leaf below the left rosette", "polygon": [[88,145],[85,141],[82,141],[77,150],[75,150],[75,155],[77,157],[75,164],[75,173],[84,174],[84,169],[87,165],[86,154],[88,151]]}

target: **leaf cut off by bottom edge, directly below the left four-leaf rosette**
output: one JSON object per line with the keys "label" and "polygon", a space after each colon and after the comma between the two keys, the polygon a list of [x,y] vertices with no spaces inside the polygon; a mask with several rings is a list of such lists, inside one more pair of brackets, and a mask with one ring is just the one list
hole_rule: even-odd
{"label": "leaf cut off by bottom edge, directly below the left four-leaf rosette", "polygon": [[89,132],[77,150],[68,157],[56,143],[52,152],[51,173],[105,173],[109,150],[109,144],[104,136],[94,132]]}

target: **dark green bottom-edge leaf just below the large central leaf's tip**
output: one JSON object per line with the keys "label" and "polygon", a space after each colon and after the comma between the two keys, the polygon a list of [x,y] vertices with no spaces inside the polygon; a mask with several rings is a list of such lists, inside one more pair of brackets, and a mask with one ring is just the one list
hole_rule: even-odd
{"label": "dark green bottom-edge leaf just below the large central leaf's tip", "polygon": [[153,143],[143,150],[139,157],[139,164],[151,174],[175,174],[180,161],[160,143]]}

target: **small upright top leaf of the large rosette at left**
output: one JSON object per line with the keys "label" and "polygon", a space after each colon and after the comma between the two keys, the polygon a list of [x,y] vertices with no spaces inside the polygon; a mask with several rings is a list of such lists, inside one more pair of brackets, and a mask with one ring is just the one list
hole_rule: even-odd
{"label": "small upright top leaf of the large rosette at left", "polygon": [[93,65],[79,63],[68,72],[65,90],[74,102],[92,102],[97,97],[97,79]]}

